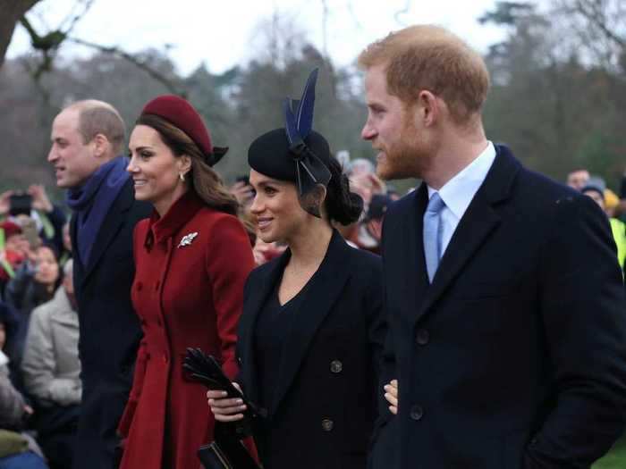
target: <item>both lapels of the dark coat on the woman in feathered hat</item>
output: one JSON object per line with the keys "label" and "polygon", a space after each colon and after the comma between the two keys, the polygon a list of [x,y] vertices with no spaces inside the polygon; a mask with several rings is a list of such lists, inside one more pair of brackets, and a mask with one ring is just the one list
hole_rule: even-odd
{"label": "both lapels of the dark coat on the woman in feathered hat", "polygon": [[[276,383],[275,397],[273,405],[269,408],[269,415],[275,415],[277,407],[283,400],[287,390],[295,379],[300,364],[304,360],[309,346],[315,337],[319,326],[326,319],[326,315],[331,311],[335,301],[340,297],[344,285],[351,276],[351,249],[343,240],[337,230],[334,230],[330,240],[326,255],[317,272],[309,280],[304,297],[302,298],[298,314],[298,320],[292,322],[292,329],[283,345],[283,356],[279,364],[279,378]],[[251,400],[258,400],[256,366],[254,361],[254,329],[257,323],[258,314],[263,309],[269,295],[275,289],[278,281],[283,276],[283,271],[289,259],[291,251],[287,249],[283,255],[269,264],[262,267],[258,272],[262,280],[260,285],[254,285],[250,292],[247,304],[250,305],[250,314],[246,318],[246,335],[242,338],[245,348],[242,350],[244,360],[247,363],[247,373],[244,381],[249,383],[249,393]]]}

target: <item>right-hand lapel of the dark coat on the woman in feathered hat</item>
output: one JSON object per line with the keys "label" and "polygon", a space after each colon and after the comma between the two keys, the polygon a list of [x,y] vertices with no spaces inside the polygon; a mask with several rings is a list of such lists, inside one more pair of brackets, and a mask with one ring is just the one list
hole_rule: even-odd
{"label": "right-hand lapel of the dark coat on the woman in feathered hat", "polygon": [[300,311],[293,312],[298,314],[298,317],[292,322],[291,333],[283,346],[284,353],[270,415],[275,415],[276,408],[298,373],[317,329],[330,313],[335,301],[341,295],[343,286],[350,278],[350,249],[351,247],[335,230],[324,261],[307,286]]}

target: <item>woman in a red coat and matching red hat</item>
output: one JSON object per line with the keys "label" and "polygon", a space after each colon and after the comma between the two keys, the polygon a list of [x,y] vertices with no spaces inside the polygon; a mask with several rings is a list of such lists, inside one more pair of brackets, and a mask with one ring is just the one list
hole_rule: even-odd
{"label": "woman in a red coat and matching red hat", "polygon": [[237,204],[211,166],[212,147],[195,109],[178,96],[146,105],[129,144],[135,197],[154,213],[135,228],[132,302],[141,341],[120,423],[122,469],[197,469],[213,440],[201,385],[182,370],[186,348],[219,357],[234,377],[243,284],[254,266]]}

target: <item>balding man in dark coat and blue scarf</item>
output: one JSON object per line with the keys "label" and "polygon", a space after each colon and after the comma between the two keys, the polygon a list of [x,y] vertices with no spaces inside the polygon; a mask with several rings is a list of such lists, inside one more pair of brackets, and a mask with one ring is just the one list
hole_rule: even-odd
{"label": "balding man in dark coat and blue scarf", "polygon": [[74,469],[113,469],[117,425],[132,383],[141,339],[131,305],[132,232],[149,205],[134,198],[124,123],[101,101],[74,103],[52,126],[48,161],[72,208],[74,289],[78,301],[82,381]]}

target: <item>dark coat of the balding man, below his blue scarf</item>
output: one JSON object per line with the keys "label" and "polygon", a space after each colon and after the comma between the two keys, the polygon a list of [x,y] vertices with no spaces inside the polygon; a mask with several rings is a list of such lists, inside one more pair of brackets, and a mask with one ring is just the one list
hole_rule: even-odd
{"label": "dark coat of the balding man, below his blue scarf", "polygon": [[[74,255],[74,289],[79,305],[79,355],[82,401],[73,467],[112,469],[119,439],[117,424],[132,384],[132,368],[141,339],[140,321],[131,304],[135,275],[132,232],[151,213],[135,200],[129,179],[102,223],[89,263]],[[72,217],[72,252],[76,223]]]}

